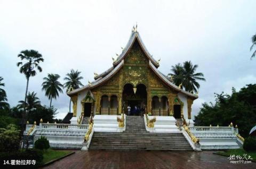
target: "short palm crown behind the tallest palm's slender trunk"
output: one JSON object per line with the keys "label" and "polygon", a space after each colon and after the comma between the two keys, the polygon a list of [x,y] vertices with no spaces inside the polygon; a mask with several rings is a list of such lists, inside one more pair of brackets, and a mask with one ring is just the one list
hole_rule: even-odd
{"label": "short palm crown behind the tallest palm's slender trunk", "polygon": [[[23,100],[19,101],[19,105],[17,105],[17,107],[19,109],[21,109],[22,107],[24,107],[25,102]],[[39,100],[39,98],[36,96],[36,92],[28,92],[28,96],[27,96],[27,103],[26,103],[26,109],[28,111],[28,114],[30,114],[31,111],[33,111],[33,109],[35,109],[36,107],[41,106],[41,102]]]}

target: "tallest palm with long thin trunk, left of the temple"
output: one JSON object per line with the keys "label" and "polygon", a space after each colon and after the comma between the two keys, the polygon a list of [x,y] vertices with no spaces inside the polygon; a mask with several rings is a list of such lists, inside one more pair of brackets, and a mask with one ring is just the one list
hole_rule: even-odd
{"label": "tallest palm with long thin trunk, left of the temple", "polygon": [[[43,56],[39,54],[36,50],[22,50],[18,57],[20,57],[21,61],[25,60],[25,62],[18,62],[17,66],[20,67],[20,73],[25,74],[27,79],[27,86],[25,92],[25,101],[27,103],[27,93],[28,93],[28,82],[30,77],[34,77],[36,75],[36,69],[39,72],[42,72],[42,67],[39,66],[40,62],[44,62]],[[22,122],[26,116],[26,104],[24,104],[24,112],[22,115]]]}

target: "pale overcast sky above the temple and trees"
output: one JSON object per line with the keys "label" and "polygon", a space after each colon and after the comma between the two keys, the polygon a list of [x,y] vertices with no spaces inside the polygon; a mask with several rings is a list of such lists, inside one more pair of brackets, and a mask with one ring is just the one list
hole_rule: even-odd
{"label": "pale overcast sky above the temple and trees", "polygon": [[[163,73],[185,61],[198,64],[206,82],[199,82],[193,104],[214,100],[214,92],[231,92],[256,82],[256,58],[250,60],[251,37],[256,33],[256,1],[3,1],[0,0],[0,77],[11,106],[25,97],[26,78],[19,73],[17,55],[38,50],[43,72],[30,79],[29,91],[42,104],[43,77],[58,73],[63,82],[70,69],[82,71],[84,84],[93,72],[111,67],[121,53],[133,25],[149,52],[161,58]],[[256,49],[256,48],[255,48]],[[65,91],[65,90],[64,90]],[[69,97],[53,100],[58,118],[68,112]],[[242,112],[241,112],[242,113]]]}

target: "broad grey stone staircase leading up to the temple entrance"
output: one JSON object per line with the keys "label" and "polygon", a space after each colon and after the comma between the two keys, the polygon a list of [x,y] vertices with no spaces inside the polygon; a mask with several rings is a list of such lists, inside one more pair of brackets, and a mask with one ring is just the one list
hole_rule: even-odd
{"label": "broad grey stone staircase leading up to the temple entrance", "polygon": [[124,132],[94,132],[91,150],[193,150],[182,133],[149,133],[143,117],[126,116]]}

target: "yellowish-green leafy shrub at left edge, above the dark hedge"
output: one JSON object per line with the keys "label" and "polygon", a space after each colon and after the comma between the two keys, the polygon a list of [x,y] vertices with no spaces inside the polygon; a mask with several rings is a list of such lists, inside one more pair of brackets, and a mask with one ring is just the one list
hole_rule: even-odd
{"label": "yellowish-green leafy shrub at left edge, above the dark hedge", "polygon": [[0,129],[0,152],[17,151],[20,145],[20,130],[14,124]]}

